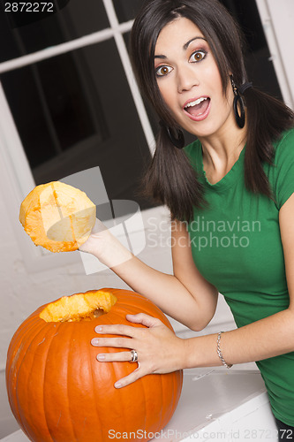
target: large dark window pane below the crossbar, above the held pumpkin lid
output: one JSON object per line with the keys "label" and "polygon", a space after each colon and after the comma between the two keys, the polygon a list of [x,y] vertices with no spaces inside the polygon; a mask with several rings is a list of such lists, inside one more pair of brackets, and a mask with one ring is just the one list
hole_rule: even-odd
{"label": "large dark window pane below the crossbar, above the held pumpkin lid", "polygon": [[136,192],[150,152],[113,40],[0,80],[36,184],[98,165],[110,199],[147,207]]}

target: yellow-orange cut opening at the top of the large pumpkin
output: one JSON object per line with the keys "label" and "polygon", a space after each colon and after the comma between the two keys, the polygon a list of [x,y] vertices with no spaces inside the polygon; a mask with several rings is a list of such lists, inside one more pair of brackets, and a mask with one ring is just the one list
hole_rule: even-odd
{"label": "yellow-orange cut opening at the top of the large pumpkin", "polygon": [[117,297],[102,290],[63,296],[48,304],[40,313],[47,323],[90,321],[109,313]]}

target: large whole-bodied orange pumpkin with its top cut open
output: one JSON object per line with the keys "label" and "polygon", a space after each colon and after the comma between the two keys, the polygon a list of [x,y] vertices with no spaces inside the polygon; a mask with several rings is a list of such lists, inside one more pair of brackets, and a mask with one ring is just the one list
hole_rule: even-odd
{"label": "large whole-bodied orange pumpkin with its top cut open", "polygon": [[[172,330],[151,301],[111,288],[63,297],[37,309],[19,326],[8,349],[6,385],[12,413],[28,438],[106,442],[128,435],[149,440],[170,421],[182,371],[148,375],[116,389],[117,379],[137,364],[98,362],[98,349],[90,344],[96,325],[130,325],[125,315],[139,312],[160,318]],[[125,349],[99,349],[117,351]]]}

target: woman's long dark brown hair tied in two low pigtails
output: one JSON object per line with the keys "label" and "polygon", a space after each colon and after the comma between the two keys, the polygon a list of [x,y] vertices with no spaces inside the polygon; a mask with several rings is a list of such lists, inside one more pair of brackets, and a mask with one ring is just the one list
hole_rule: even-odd
{"label": "woman's long dark brown hair tied in two low pigtails", "polygon": [[[162,100],[155,77],[155,44],[163,27],[184,17],[206,37],[215,57],[226,94],[230,73],[238,86],[247,81],[243,56],[243,36],[235,20],[218,0],[147,0],[134,21],[131,34],[132,66],[139,87],[158,117],[177,128]],[[245,186],[253,193],[272,198],[263,164],[272,164],[273,141],[293,126],[293,112],[279,100],[256,88],[245,91],[247,118]],[[156,139],[155,156],[144,179],[146,194],[170,208],[171,217],[192,220],[193,206],[205,205],[203,188],[185,151],[176,149],[164,129]]]}

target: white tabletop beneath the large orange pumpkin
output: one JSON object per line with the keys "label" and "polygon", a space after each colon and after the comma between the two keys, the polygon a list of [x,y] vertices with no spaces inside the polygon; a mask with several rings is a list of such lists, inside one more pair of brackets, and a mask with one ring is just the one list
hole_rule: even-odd
{"label": "white tabletop beneath the large orange pumpkin", "polygon": [[[117,440],[127,440],[125,436],[117,435]],[[185,370],[183,392],[175,414],[160,433],[149,437],[169,442],[197,439],[275,442],[275,420],[260,372],[224,367]],[[19,430],[1,442],[27,440]]]}

